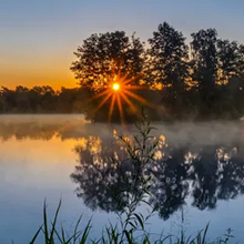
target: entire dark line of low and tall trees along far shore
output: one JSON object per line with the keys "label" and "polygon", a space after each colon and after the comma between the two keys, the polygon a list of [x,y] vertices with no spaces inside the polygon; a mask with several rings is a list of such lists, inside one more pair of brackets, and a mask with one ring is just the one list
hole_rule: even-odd
{"label": "entire dark line of low and tall trees along far shore", "polygon": [[[111,113],[112,95],[103,102],[105,95],[99,93],[125,78],[130,85],[143,88],[133,90],[134,96],[126,93],[133,106],[121,95],[125,120],[136,119],[135,111],[143,104],[139,96],[150,101],[143,105],[152,120],[241,118],[244,45],[218,38],[215,29],[200,30],[191,38],[186,43],[182,32],[166,22],[146,43],[124,31],[92,34],[74,52],[77,60],[71,64],[80,88],[59,92],[50,87],[3,88],[0,111],[84,112],[88,119],[104,121]],[[92,96],[98,99],[89,100]],[[121,118],[115,105],[112,121]]]}

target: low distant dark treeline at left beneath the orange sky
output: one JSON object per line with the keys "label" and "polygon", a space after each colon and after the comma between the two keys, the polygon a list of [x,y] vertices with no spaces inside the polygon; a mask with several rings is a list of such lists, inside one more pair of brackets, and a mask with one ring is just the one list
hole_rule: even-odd
{"label": "low distant dark treeline at left beneath the orange sky", "polygon": [[1,113],[84,113],[88,91],[80,88],[55,91],[49,85],[17,87],[0,91]]}

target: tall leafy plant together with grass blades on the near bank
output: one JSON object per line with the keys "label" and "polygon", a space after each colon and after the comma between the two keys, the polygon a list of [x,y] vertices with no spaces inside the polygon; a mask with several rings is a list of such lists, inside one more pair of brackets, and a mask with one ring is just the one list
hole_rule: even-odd
{"label": "tall leafy plant together with grass blades on the near bank", "polygon": [[[152,213],[155,211],[150,203],[146,201],[146,196],[150,194],[149,189],[151,176],[143,174],[143,170],[154,160],[154,152],[157,146],[157,141],[150,135],[153,128],[143,114],[143,119],[136,123],[139,135],[134,135],[133,141],[121,136],[120,140],[125,145],[125,150],[129,155],[130,162],[133,164],[134,174],[133,181],[124,182],[128,189],[119,191],[114,194],[118,202],[124,204],[121,197],[126,194],[126,205],[123,206],[122,212],[118,212],[119,221],[115,225],[109,224],[104,226],[101,237],[92,240],[90,231],[92,228],[92,221],[90,220],[82,227],[82,215],[78,218],[72,234],[67,234],[65,230],[61,226],[57,226],[58,215],[61,207],[61,201],[54,213],[54,217],[49,222],[47,215],[47,204],[43,206],[43,224],[33,235],[30,244],[37,244],[38,236],[42,235],[42,244],[226,244],[232,240],[231,230],[215,242],[211,242],[207,237],[207,231],[210,224],[204,230],[200,231],[195,236],[185,236],[184,231],[181,232],[180,236],[169,235],[160,236],[155,240],[150,233],[146,232],[145,222],[150,218]],[[115,159],[112,159],[116,161]],[[133,194],[130,194],[133,192]],[[150,213],[143,215],[138,212],[138,206],[141,203],[148,204]]]}

